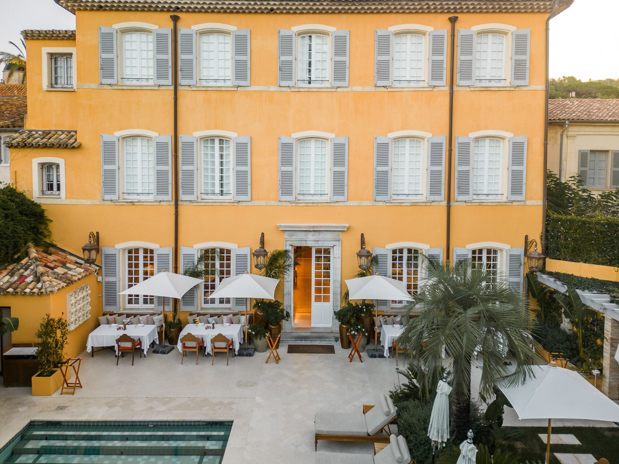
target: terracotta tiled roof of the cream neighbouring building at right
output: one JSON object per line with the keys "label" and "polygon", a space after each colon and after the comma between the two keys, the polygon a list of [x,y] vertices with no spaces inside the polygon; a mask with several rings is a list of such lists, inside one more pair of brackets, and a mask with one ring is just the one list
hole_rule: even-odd
{"label": "terracotta tiled roof of the cream neighbouring building at right", "polygon": [[548,100],[548,121],[619,121],[617,98]]}

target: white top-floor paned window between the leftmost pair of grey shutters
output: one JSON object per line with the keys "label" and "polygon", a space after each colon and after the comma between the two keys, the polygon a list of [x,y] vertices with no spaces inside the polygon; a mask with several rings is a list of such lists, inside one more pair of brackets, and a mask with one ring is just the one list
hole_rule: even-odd
{"label": "white top-floor paned window between the leftmost pair of grey shutters", "polygon": [[125,32],[123,34],[123,61],[123,82],[125,84],[152,84],[152,33]]}

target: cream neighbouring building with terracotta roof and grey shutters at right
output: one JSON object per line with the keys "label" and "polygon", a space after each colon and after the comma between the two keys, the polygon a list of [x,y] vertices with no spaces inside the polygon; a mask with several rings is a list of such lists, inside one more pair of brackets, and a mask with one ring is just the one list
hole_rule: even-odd
{"label": "cream neighbouring building with terracotta roof and grey shutters at right", "polygon": [[549,100],[548,110],[548,169],[581,174],[593,192],[619,188],[619,100]]}

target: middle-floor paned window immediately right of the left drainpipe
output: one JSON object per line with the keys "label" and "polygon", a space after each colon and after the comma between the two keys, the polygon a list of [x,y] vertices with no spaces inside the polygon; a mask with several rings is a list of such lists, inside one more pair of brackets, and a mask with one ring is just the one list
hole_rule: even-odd
{"label": "middle-floor paned window immediately right of the left drainpipe", "polygon": [[202,139],[202,198],[232,197],[232,142]]}

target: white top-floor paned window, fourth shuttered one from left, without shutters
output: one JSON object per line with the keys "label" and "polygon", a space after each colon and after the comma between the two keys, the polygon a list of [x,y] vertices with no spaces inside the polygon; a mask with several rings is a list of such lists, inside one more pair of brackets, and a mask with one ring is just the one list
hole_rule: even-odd
{"label": "white top-floor paned window, fourth shuttered one from left, without shutters", "polygon": [[398,34],[394,37],[394,85],[423,85],[423,35]]}

